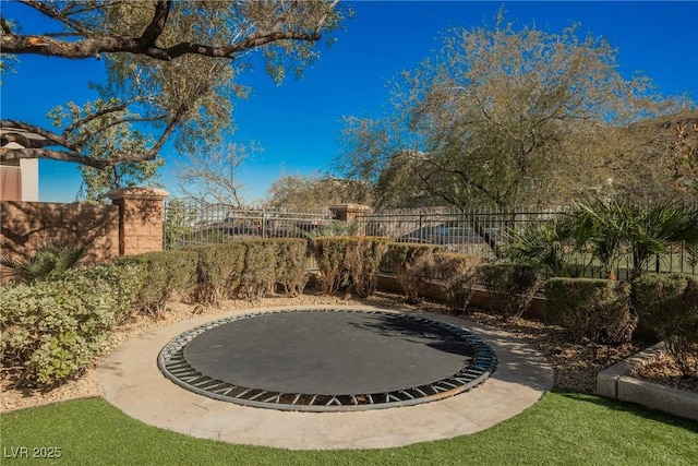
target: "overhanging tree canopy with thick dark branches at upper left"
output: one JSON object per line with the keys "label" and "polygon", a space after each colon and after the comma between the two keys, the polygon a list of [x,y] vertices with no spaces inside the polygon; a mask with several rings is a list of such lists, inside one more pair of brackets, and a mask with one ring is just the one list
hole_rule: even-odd
{"label": "overhanging tree canopy with thick dark branches at upper left", "polygon": [[[156,160],[170,136],[183,153],[202,152],[232,128],[234,97],[249,89],[236,77],[255,57],[280,82],[300,73],[330,43],[345,13],[337,0],[140,1],[22,0],[55,29],[0,16],[2,71],[22,55],[103,59],[107,77],[95,101],[51,111],[40,122],[1,120],[0,159],[49,158],[104,169]],[[31,134],[31,136],[27,136]]]}

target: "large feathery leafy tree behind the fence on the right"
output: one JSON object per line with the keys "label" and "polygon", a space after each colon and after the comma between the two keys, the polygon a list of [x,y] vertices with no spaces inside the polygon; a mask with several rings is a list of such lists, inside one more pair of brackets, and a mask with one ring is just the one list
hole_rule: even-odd
{"label": "large feathery leafy tree behind the fence on the right", "polygon": [[[347,119],[338,166],[384,188],[384,204],[512,208],[605,193],[614,132],[693,106],[624,79],[615,55],[576,26],[515,28],[503,13],[493,27],[452,29],[434,59],[396,80],[390,115]],[[642,143],[623,141],[629,154]]]}

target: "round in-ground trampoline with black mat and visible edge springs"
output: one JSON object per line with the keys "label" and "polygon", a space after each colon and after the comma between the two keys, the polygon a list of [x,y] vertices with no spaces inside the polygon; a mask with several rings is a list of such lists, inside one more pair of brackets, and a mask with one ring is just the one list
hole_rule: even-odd
{"label": "round in-ground trampoline with black mat and visible edge springs", "polygon": [[219,319],[158,356],[178,385],[219,401],[302,411],[389,408],[468,392],[496,368],[472,333],[390,311],[294,309]]}

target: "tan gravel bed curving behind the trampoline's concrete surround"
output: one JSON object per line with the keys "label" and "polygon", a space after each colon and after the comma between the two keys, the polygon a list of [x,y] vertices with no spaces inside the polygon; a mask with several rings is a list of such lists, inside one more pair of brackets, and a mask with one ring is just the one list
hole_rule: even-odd
{"label": "tan gravel bed curving behind the trampoline's concrete surround", "polygon": [[[244,300],[226,301],[219,308],[206,308],[186,303],[174,303],[161,318],[149,315],[134,315],[119,327],[113,334],[107,354],[117,348],[122,343],[133,338],[140,333],[158,328],[191,319],[192,315],[204,312],[215,318],[217,314],[227,313],[231,310],[243,311],[252,307],[279,307],[279,306],[384,306],[394,308],[399,306],[407,309],[420,309],[434,313],[452,313],[448,307],[423,302],[420,306],[407,304],[402,297],[398,295],[377,292],[369,299],[358,300],[350,296],[326,296],[317,291],[309,290],[296,297],[272,297],[256,302]],[[555,384],[563,389],[575,390],[586,393],[594,393],[597,386],[597,374],[607,367],[645,349],[652,343],[627,343],[621,346],[609,347],[605,345],[574,344],[567,342],[565,332],[559,326],[546,325],[542,322],[527,319],[512,319],[502,321],[497,316],[488,314],[480,310],[472,310],[464,314],[462,318],[473,322],[501,328],[505,332],[516,334],[532,344],[550,361],[554,373]],[[99,361],[95,361],[96,366]],[[672,368],[670,358],[660,359],[654,365],[642,369],[636,377],[650,380],[655,383],[674,386],[681,390],[688,390],[698,393],[698,381],[686,380],[676,374],[677,370]],[[57,403],[87,396],[99,396],[100,390],[97,382],[96,371],[93,368],[86,370],[79,379],[69,381],[50,391],[33,390],[31,387],[16,390],[11,381],[3,373],[0,381],[0,410],[13,410],[33,406],[40,406],[49,403]]]}

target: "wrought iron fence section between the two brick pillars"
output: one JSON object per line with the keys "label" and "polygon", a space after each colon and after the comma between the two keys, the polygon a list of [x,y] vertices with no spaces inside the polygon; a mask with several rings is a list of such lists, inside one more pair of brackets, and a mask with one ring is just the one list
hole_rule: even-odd
{"label": "wrought iron fence section between the two brick pillars", "polygon": [[194,200],[165,204],[164,249],[217,244],[250,238],[306,238],[335,222],[334,214],[265,207],[237,208]]}

